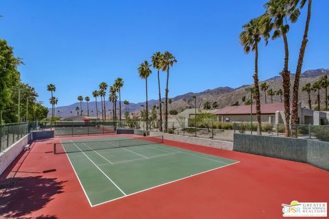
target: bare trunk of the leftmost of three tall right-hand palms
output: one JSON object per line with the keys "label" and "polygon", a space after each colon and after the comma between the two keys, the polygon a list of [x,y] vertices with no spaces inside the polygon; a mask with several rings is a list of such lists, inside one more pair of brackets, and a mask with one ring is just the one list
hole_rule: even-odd
{"label": "bare trunk of the leftmost of three tall right-hand palms", "polygon": [[[255,43],[255,74],[254,74],[254,89],[255,89],[255,101],[256,101],[256,116],[257,116],[257,134],[262,135],[262,119],[260,112],[260,96],[259,96],[259,84],[258,84],[258,43]],[[252,129],[252,127],[250,127]]]}

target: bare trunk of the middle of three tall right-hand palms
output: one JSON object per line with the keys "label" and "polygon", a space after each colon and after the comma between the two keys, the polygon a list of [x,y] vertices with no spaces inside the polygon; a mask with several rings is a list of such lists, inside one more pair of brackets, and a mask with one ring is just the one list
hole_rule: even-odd
{"label": "bare trunk of the middle of three tall right-hand palms", "polygon": [[284,120],[286,122],[285,124],[285,130],[284,130],[284,136],[289,137],[290,136],[290,73],[288,70],[288,64],[289,64],[289,49],[288,49],[288,40],[287,40],[287,34],[284,33],[283,25],[281,27],[281,33],[284,41],[284,68],[282,71],[282,86],[283,86],[283,96],[284,96]]}

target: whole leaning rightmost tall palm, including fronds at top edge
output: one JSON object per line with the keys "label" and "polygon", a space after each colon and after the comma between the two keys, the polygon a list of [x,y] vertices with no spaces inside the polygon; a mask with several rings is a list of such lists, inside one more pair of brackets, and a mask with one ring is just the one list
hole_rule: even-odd
{"label": "whole leaning rightmost tall palm, including fronds at top edge", "polygon": [[[304,8],[306,0],[291,0],[291,6],[293,10],[291,10],[290,20],[295,23],[297,21],[298,16],[300,15],[300,10],[297,8],[298,3],[300,2],[300,8]],[[308,0],[308,8],[307,8],[307,18],[304,29],[304,36],[302,39],[302,44],[300,45],[300,55],[297,61],[297,69],[295,73],[295,81],[293,83],[293,103],[291,110],[291,121],[294,125],[298,123],[298,89],[300,86],[300,74],[302,73],[302,65],[304,61],[304,53],[306,49],[306,44],[308,42],[308,27],[310,25],[310,12],[312,8],[312,0]]]}

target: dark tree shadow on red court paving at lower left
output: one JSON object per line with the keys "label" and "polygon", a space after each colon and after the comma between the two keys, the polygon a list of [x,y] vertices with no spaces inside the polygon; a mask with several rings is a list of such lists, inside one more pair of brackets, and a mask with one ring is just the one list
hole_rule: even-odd
{"label": "dark tree shadow on red court paving at lower left", "polygon": [[[0,182],[0,215],[19,218],[45,207],[55,194],[63,192],[66,181],[56,178],[15,177]],[[39,216],[38,218],[56,218]]]}

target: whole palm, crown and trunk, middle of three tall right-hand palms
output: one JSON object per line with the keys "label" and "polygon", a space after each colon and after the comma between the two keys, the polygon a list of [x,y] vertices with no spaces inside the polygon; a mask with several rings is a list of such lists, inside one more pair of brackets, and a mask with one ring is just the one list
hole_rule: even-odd
{"label": "whole palm, crown and trunk, middle of three tall right-hand palms", "polygon": [[290,72],[289,72],[289,47],[287,32],[289,31],[289,25],[287,22],[287,16],[291,12],[291,0],[270,0],[266,3],[266,11],[273,20],[274,32],[272,39],[280,38],[282,36],[284,42],[284,68],[280,75],[282,76],[282,87],[284,96],[284,120],[285,120],[285,133],[284,136],[290,136]]}

